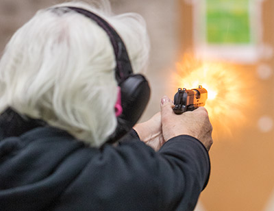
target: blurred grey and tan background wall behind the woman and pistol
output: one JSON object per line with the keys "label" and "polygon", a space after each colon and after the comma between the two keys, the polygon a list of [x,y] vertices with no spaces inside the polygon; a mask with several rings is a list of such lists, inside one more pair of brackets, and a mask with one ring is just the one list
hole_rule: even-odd
{"label": "blurred grey and tan background wall behind the woman and pistol", "polygon": [[[3,52],[10,36],[37,10],[61,2],[64,1],[0,0],[0,51]],[[193,58],[199,58],[202,62],[208,60],[223,62],[231,59],[229,62],[233,63],[233,68],[221,70],[226,74],[223,79],[229,78],[230,75],[232,77],[234,73],[240,75],[238,78],[234,77],[234,83],[230,85],[240,83],[241,88],[234,90],[234,93],[235,96],[242,96],[242,99],[238,98],[235,102],[234,99],[222,98],[225,96],[225,88],[228,91],[227,86],[230,85],[219,78],[216,83],[221,81],[223,85],[220,86],[222,92],[219,92],[217,97],[219,101],[221,99],[229,106],[225,107],[228,110],[223,110],[219,116],[212,115],[212,124],[215,128],[215,142],[210,151],[212,174],[208,188],[201,194],[197,211],[273,211],[274,2],[272,0],[112,0],[111,3],[115,13],[138,12],[147,21],[151,38],[151,60],[146,75],[151,83],[152,95],[141,121],[149,119],[160,110],[160,99],[163,95],[173,98],[177,87],[184,86],[184,83],[174,80],[174,76],[182,73],[182,70],[178,71],[178,64],[181,66],[186,64],[184,62],[186,53],[191,53]],[[222,8],[222,3],[227,5],[238,3],[239,10],[232,8],[231,11],[234,10],[234,13],[229,14],[230,10],[223,8],[219,14],[218,7]],[[248,15],[242,12],[245,3],[250,3]],[[253,15],[256,18],[252,18]],[[234,24],[239,22],[237,20],[242,18],[247,18],[246,21],[250,22],[250,27],[247,27],[249,24],[243,24],[247,29],[234,27]],[[220,22],[222,20],[223,22]],[[225,32],[227,34],[224,33],[225,37],[227,38],[232,32],[229,34],[232,40],[222,40],[220,34],[224,31],[224,25],[227,30]],[[216,36],[210,34],[214,32]],[[257,34],[256,37],[252,36],[250,39],[246,37],[253,32]],[[240,33],[245,34],[245,37],[237,35]],[[203,37],[203,34],[206,36]],[[239,37],[242,40],[238,40]],[[218,39],[219,41],[216,41]],[[229,47],[227,42],[235,44],[236,49]],[[242,48],[242,42],[251,45]],[[230,51],[232,53],[227,53]],[[188,72],[182,74],[182,79],[188,77],[187,73],[191,73],[192,66],[197,67],[193,64],[195,61],[188,61],[190,68]],[[210,82],[214,83],[214,80]],[[245,99],[249,99],[248,103],[237,107],[239,110],[237,114],[233,113],[236,106],[243,104]],[[210,105],[208,109],[215,112],[214,105],[219,104],[212,101],[208,105]],[[243,115],[246,121],[238,120],[238,115]],[[225,126],[223,120],[229,127],[229,133],[222,130]],[[229,124],[229,121],[232,123]]]}

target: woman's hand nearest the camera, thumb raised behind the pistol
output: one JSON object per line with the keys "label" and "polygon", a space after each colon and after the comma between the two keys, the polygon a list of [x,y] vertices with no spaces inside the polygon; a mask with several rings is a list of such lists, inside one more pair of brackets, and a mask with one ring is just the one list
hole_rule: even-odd
{"label": "woman's hand nearest the camera, thumb raised behind the pistol", "polygon": [[168,97],[161,101],[162,135],[164,141],[179,136],[188,135],[200,140],[210,150],[213,143],[212,125],[206,108],[199,107],[192,112],[177,115],[173,112],[173,102]]}

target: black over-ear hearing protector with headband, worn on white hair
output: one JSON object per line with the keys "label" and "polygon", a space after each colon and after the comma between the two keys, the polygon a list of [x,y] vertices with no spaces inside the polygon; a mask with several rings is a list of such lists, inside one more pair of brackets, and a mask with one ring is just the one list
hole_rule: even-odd
{"label": "black over-ear hearing protector with headband, worn on white hair", "polygon": [[140,74],[134,74],[127,49],[123,40],[114,28],[103,18],[82,8],[65,7],[95,21],[110,38],[116,58],[115,77],[121,88],[121,105],[123,112],[117,116],[118,125],[108,142],[115,142],[122,138],[136,124],[144,112],[150,97],[147,79]]}

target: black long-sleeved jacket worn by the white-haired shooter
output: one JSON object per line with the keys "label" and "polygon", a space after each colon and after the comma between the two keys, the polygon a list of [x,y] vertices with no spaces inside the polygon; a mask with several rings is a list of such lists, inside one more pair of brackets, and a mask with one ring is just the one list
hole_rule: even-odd
{"label": "black long-sleeved jacket worn by the white-haired shooter", "polygon": [[199,140],[155,152],[134,130],[119,146],[87,147],[68,133],[0,117],[0,210],[193,210],[210,173]]}

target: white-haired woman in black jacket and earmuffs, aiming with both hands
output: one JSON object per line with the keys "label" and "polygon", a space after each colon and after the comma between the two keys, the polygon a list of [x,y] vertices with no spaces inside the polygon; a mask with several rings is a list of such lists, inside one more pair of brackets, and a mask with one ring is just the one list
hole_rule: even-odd
{"label": "white-haired woman in black jacket and earmuffs, aiming with both hands", "polygon": [[8,43],[1,210],[195,208],[210,173],[208,114],[176,115],[163,97],[161,112],[132,129],[149,97],[132,70],[145,68],[149,41],[140,16],[108,5],[40,10]]}

